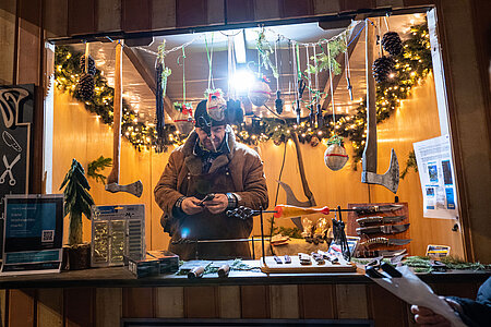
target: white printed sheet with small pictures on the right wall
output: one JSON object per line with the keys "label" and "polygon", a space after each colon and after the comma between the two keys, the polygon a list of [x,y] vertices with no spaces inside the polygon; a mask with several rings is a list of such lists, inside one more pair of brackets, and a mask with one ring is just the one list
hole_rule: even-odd
{"label": "white printed sheet with small pictures on the right wall", "polygon": [[455,173],[450,136],[439,136],[414,144],[423,195],[423,217],[457,217]]}

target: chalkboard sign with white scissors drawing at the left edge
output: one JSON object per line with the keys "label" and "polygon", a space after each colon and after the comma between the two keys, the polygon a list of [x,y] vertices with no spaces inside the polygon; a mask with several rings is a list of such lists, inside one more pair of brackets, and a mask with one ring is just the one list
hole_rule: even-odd
{"label": "chalkboard sign with white scissors drawing at the left edge", "polygon": [[27,194],[34,84],[0,86],[0,197]]}

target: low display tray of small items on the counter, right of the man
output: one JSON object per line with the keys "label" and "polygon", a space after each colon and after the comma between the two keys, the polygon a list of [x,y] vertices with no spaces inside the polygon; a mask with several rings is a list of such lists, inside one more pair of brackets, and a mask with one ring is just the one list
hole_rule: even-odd
{"label": "low display tray of small items on the counter, right of the man", "polygon": [[[261,258],[261,271],[264,274],[318,274],[318,272],[355,272],[357,265],[342,259],[339,264],[325,261],[318,264],[314,259],[310,265],[301,265],[298,255],[290,256],[291,264],[277,264],[273,256],[266,256],[265,262]],[[283,259],[283,257],[282,257]]]}

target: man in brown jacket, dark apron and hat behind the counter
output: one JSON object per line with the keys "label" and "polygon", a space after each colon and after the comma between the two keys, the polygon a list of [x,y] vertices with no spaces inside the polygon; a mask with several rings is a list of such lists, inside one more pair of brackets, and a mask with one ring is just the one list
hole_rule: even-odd
{"label": "man in brown jacket, dark apron and hat behind the counter", "polygon": [[[227,217],[226,210],[267,208],[268,204],[260,156],[236,142],[225,114],[216,114],[214,109],[207,108],[206,100],[197,105],[195,130],[170,154],[154,191],[164,210],[164,231],[171,237],[169,251],[182,259],[250,258],[249,242],[195,241],[249,238],[252,218]],[[215,196],[201,202],[207,194]]]}

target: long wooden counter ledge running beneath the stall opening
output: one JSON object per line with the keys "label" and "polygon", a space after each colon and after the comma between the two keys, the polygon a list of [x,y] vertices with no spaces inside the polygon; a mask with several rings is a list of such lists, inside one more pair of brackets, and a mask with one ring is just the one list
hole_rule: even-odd
{"label": "long wooden counter ledge running beneath the stall opening", "polygon": [[[258,261],[246,262],[251,266]],[[491,271],[450,270],[447,272],[419,274],[426,282],[482,282]],[[124,267],[91,268],[85,270],[62,271],[60,274],[0,276],[0,289],[24,288],[72,288],[72,287],[185,287],[185,286],[243,286],[243,284],[337,284],[372,283],[358,268],[357,272],[343,274],[271,274],[258,270],[230,271],[228,278],[218,278],[217,274],[205,275],[199,279],[175,274],[157,277],[136,278]]]}

